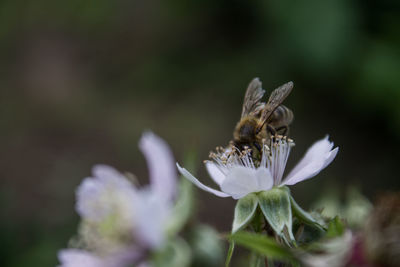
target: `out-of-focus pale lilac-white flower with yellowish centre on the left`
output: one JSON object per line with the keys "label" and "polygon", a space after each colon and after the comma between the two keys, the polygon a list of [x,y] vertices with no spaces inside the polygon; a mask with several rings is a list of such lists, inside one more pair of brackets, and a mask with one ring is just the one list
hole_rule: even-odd
{"label": "out-of-focus pale lilac-white flower with yellowish centre on the left", "polygon": [[114,168],[96,165],[78,187],[79,238],[91,252],[60,251],[62,267],[126,266],[163,245],[177,186],[174,159],[153,133],[145,133],[139,147],[149,167],[148,186],[138,189]]}

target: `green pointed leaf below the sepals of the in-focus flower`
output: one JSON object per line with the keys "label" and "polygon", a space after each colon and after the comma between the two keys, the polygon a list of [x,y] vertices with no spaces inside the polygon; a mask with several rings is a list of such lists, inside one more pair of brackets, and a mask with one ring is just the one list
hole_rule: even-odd
{"label": "green pointed leaf below the sepals of the in-focus flower", "polygon": [[230,239],[269,259],[295,261],[294,256],[288,249],[281,247],[274,239],[268,236],[239,231],[231,235]]}

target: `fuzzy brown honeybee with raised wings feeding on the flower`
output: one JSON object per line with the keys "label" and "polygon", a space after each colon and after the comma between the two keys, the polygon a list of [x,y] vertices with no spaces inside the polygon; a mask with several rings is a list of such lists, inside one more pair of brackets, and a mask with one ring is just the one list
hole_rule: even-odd
{"label": "fuzzy brown honeybee with raised wings feeding on the flower", "polygon": [[[265,91],[261,82],[254,78],[247,87],[244,96],[242,115],[233,132],[234,145],[239,150],[257,148],[261,151],[262,144],[276,134],[287,136],[289,124],[293,121],[293,112],[281,105],[293,89],[293,82],[288,82],[276,88],[268,102],[261,102]],[[252,149],[253,150],[253,149]]]}

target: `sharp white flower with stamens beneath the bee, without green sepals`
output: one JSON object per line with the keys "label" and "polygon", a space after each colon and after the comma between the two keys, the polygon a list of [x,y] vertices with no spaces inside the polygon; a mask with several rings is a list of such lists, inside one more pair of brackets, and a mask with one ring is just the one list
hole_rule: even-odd
{"label": "sharp white flower with stamens beneath the bee, without green sepals", "polygon": [[219,197],[240,199],[250,193],[267,191],[273,186],[293,185],[317,175],[335,158],[338,148],[328,137],[313,144],[294,169],[283,178],[293,141],[286,137],[273,138],[270,147],[263,145],[261,161],[254,162],[251,152],[237,151],[231,146],[211,153],[214,162],[207,161],[206,168],[221,191],[202,184],[186,169],[177,164],[179,172],[199,188]]}

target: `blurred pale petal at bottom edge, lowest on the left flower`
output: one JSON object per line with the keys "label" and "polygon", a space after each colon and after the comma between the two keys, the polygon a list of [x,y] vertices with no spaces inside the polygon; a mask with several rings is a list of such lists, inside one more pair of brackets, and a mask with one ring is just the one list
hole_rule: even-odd
{"label": "blurred pale petal at bottom edge, lowest on the left flower", "polygon": [[58,252],[59,267],[106,267],[107,264],[90,252],[64,249]]}

